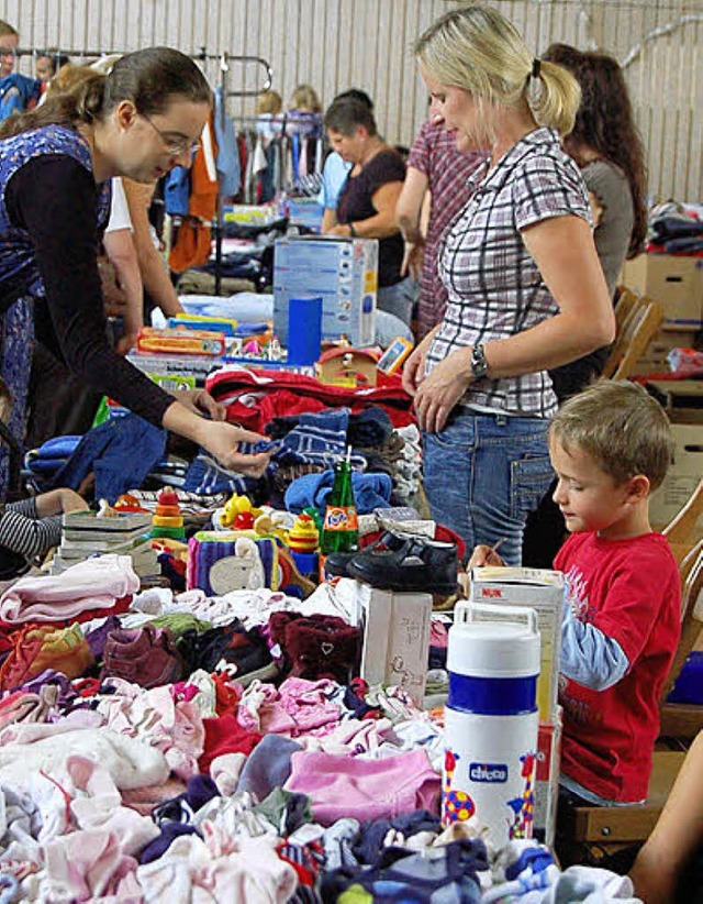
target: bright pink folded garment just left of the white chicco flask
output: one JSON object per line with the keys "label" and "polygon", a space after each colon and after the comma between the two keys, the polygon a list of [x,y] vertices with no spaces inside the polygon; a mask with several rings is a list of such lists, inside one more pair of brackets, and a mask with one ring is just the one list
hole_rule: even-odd
{"label": "bright pink folded garment just left of the white chicco flask", "polygon": [[424,750],[383,760],[300,750],[291,763],[283,787],[306,794],[315,822],[323,826],[344,817],[362,822],[420,808],[437,811],[439,775]]}

